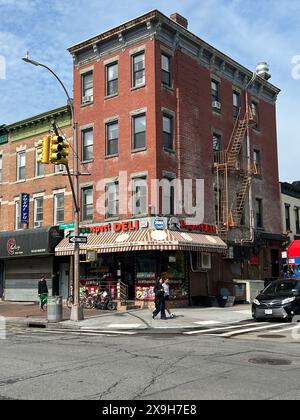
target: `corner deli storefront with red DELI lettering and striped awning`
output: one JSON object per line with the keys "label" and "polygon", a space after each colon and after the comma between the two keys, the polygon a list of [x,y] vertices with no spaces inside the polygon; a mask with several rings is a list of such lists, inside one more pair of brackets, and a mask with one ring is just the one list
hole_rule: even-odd
{"label": "corner deli storefront with red DELI lettering and striped awning", "polygon": [[[80,281],[92,291],[108,283],[117,299],[117,284],[122,282],[127,299],[146,306],[154,300],[155,279],[162,276],[170,280],[175,305],[186,306],[194,297],[214,293],[214,284],[220,280],[220,261],[227,246],[214,226],[191,226],[176,218],[145,218],[82,226],[80,230],[87,236],[87,245],[80,249]],[[74,253],[67,236],[55,249],[57,257]]]}

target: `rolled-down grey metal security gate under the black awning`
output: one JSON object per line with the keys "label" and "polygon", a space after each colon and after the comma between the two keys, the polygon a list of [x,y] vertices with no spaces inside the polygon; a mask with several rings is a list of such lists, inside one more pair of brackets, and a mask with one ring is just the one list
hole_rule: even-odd
{"label": "rolled-down grey metal security gate under the black awning", "polygon": [[46,276],[52,289],[52,257],[21,258],[5,262],[4,299],[16,302],[38,300],[38,281]]}

